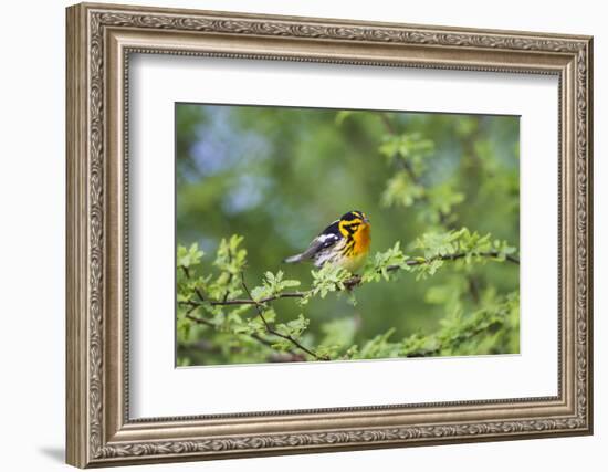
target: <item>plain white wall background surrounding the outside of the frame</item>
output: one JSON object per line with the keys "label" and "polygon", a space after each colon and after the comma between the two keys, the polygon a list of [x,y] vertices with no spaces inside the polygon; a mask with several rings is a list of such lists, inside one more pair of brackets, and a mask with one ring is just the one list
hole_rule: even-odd
{"label": "plain white wall background surrounding the outside of the frame", "polygon": [[[124,3],[134,3],[122,0]],[[144,0],[141,0],[144,1]],[[230,460],[146,470],[310,471],[601,470],[608,392],[607,220],[608,32],[601,2],[511,0],[147,0],[147,4],[595,35],[595,396],[596,434],[484,444]],[[0,464],[66,470],[64,444],[64,0],[2,7],[0,72]]]}

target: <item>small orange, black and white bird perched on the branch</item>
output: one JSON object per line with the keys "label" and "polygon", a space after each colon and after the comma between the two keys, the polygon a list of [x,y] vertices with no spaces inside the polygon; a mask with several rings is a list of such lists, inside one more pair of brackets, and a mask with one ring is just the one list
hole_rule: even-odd
{"label": "small orange, black and white bird perched on the branch", "polygon": [[333,264],[355,273],[364,264],[371,243],[371,224],[363,211],[353,210],[325,228],[300,253],[283,262],[312,261],[318,269]]}

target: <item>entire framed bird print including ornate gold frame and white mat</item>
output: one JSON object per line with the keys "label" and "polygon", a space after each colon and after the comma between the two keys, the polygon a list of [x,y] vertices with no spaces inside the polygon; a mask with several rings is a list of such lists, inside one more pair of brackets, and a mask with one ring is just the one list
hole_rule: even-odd
{"label": "entire framed bird print including ornate gold frame and white mat", "polygon": [[589,434],[591,39],[67,9],[67,462]]}

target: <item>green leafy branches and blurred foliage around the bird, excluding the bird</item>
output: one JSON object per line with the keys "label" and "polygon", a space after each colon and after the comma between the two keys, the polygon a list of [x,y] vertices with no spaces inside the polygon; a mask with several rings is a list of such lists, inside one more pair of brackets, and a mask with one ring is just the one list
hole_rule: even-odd
{"label": "green leafy branches and blurred foliage around the bird, excluding the bird", "polygon": [[[517,117],[179,104],[176,148],[178,365],[518,352]],[[357,286],[281,262],[354,209]]]}

